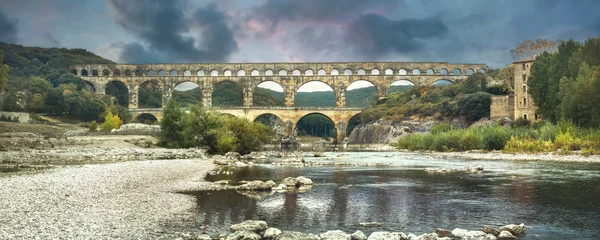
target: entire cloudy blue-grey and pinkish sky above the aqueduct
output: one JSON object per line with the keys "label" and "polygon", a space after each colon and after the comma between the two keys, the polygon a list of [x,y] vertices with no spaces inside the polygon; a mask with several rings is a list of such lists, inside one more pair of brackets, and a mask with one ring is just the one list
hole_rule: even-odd
{"label": "entire cloudy blue-grey and pinkish sky above the aqueduct", "polygon": [[119,63],[444,61],[600,36],[598,0],[0,0],[0,41]]}

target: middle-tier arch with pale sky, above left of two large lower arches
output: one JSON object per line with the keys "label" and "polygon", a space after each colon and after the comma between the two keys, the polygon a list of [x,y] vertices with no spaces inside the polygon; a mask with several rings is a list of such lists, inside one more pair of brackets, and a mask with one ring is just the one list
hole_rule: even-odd
{"label": "middle-tier arch with pale sky, above left of two large lower arches", "polygon": [[253,106],[285,106],[285,88],[280,82],[264,80],[258,83],[252,93]]}

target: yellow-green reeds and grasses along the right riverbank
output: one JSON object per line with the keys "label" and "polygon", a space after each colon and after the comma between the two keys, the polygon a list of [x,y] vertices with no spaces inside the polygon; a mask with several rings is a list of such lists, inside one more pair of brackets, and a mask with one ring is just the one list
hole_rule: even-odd
{"label": "yellow-green reeds and grasses along the right riverbank", "polygon": [[429,151],[503,150],[505,152],[600,153],[600,131],[575,126],[571,122],[540,122],[533,126],[473,126],[454,129],[450,124],[434,126],[430,132],[401,138],[399,149]]}

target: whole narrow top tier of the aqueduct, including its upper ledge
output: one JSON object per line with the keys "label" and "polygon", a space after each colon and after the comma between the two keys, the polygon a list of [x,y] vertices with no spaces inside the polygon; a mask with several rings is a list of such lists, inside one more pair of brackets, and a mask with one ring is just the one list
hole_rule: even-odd
{"label": "whole narrow top tier of the aqueduct, including its upper ledge", "polygon": [[222,64],[96,64],[76,65],[70,71],[80,76],[336,76],[336,75],[438,75],[465,76],[489,70],[485,64],[445,62],[365,63],[222,63]]}

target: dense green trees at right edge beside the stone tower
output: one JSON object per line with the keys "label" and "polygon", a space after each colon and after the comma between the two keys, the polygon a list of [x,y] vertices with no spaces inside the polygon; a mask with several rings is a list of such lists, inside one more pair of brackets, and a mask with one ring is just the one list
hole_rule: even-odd
{"label": "dense green trees at right edge beside the stone tower", "polygon": [[600,38],[560,42],[538,55],[527,79],[537,113],[552,122],[600,127]]}

